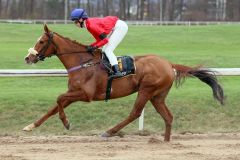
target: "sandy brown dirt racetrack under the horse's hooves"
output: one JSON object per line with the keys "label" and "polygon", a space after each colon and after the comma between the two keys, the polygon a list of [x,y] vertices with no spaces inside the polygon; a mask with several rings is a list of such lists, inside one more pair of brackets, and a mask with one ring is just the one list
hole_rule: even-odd
{"label": "sandy brown dirt racetrack under the horse's hooves", "polygon": [[240,160],[240,133],[0,137],[0,160]]}

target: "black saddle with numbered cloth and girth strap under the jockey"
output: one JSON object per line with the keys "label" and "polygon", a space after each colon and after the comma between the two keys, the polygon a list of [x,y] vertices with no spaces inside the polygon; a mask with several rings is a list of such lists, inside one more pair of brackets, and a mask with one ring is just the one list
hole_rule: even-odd
{"label": "black saddle with numbered cloth and girth strap under the jockey", "polygon": [[[123,76],[121,77],[125,77],[131,74],[135,74],[135,63],[134,63],[134,58],[131,56],[118,56],[117,57],[117,61],[118,61],[118,68],[119,71],[122,73]],[[116,78],[121,78],[121,77],[115,77],[114,76],[114,71],[112,69],[112,66],[107,58],[107,56],[105,55],[104,52],[102,52],[102,64],[104,66],[104,68],[106,69],[107,73],[108,73],[108,81],[107,81],[107,88],[106,88],[106,97],[105,97],[105,101],[108,101],[108,99],[111,96],[111,88],[112,88],[112,81],[113,79]]]}

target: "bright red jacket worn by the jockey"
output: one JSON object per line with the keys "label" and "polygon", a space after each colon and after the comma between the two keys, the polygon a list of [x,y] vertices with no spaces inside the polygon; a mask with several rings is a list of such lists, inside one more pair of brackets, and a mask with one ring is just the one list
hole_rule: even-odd
{"label": "bright red jacket worn by the jockey", "polygon": [[99,48],[108,43],[107,35],[112,31],[117,20],[118,17],[115,16],[86,19],[86,28],[96,39],[96,42],[92,43],[91,46]]}

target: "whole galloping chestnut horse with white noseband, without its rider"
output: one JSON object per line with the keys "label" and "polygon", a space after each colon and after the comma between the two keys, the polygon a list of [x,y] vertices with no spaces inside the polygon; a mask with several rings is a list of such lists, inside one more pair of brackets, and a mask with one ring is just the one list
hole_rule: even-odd
{"label": "whole galloping chestnut horse with white noseband, without its rider", "polygon": [[[47,114],[35,123],[26,126],[24,131],[39,127],[57,112],[63,125],[69,129],[70,123],[64,113],[64,108],[75,101],[104,100],[106,95],[108,74],[101,64],[101,51],[96,50],[94,54],[89,54],[85,45],[51,32],[47,25],[44,26],[44,30],[45,33],[39,38],[34,48],[29,49],[25,61],[32,64],[44,60],[45,57],[57,56],[68,71],[68,91],[57,98],[57,104]],[[145,104],[150,101],[165,121],[164,140],[169,141],[173,116],[167,108],[165,99],[173,82],[180,84],[180,80],[185,77],[197,77],[209,85],[214,98],[223,104],[222,87],[210,70],[172,64],[156,55],[136,56],[134,59],[135,74],[114,79],[110,97],[111,99],[119,98],[138,92],[133,109],[125,120],[106,131],[102,136],[113,136],[136,120],[141,115]]]}

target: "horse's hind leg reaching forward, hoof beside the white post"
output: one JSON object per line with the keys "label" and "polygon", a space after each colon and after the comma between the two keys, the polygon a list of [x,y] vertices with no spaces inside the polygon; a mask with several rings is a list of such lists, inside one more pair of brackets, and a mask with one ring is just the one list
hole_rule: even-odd
{"label": "horse's hind leg reaching forward, hoof beside the white post", "polygon": [[102,136],[111,137],[115,133],[117,133],[120,129],[122,129],[123,127],[125,127],[126,125],[128,125],[129,123],[137,119],[138,117],[140,117],[142,110],[149,99],[150,98],[148,93],[139,92],[130,115],[124,121],[120,122],[118,125],[111,128],[106,133],[102,134]]}

